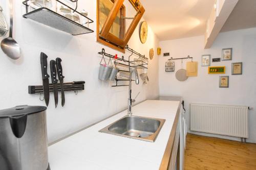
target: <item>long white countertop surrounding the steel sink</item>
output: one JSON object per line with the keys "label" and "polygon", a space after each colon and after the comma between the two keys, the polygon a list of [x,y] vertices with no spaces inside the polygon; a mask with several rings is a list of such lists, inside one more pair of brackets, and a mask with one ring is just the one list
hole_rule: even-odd
{"label": "long white countertop surrounding the steel sink", "polygon": [[133,115],[166,119],[155,142],[98,132],[127,111],[61,140],[49,147],[51,170],[157,170],[178,107],[178,101],[145,101],[133,107]]}

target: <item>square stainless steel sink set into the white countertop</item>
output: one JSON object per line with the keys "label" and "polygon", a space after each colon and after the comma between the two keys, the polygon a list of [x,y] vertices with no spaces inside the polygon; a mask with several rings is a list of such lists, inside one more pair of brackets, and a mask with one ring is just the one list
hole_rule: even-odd
{"label": "square stainless steel sink set into the white countertop", "polygon": [[99,132],[154,142],[165,119],[124,116]]}

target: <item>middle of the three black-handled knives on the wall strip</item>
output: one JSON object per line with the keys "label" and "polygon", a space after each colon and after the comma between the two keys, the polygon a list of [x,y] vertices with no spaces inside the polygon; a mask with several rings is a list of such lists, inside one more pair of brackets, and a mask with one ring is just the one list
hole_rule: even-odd
{"label": "middle of the three black-handled knives on the wall strip", "polygon": [[50,68],[51,68],[54,102],[55,102],[55,108],[56,108],[58,105],[58,79],[57,79],[56,61],[54,60],[50,61]]}

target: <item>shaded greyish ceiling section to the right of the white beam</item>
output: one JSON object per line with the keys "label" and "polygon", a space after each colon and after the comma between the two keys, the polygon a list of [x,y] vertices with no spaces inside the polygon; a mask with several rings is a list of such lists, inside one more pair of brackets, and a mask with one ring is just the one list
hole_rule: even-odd
{"label": "shaded greyish ceiling section to the right of the white beam", "polygon": [[256,1],[240,0],[229,15],[221,32],[256,27]]}

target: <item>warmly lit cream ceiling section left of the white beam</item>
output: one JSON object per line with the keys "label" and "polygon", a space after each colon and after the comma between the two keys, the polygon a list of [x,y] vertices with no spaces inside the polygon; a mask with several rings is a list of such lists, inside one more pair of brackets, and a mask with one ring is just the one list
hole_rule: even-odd
{"label": "warmly lit cream ceiling section left of the white beam", "polygon": [[[246,0],[247,1],[247,0]],[[254,1],[254,0],[252,0]],[[140,0],[143,18],[160,40],[204,35],[215,0]]]}

